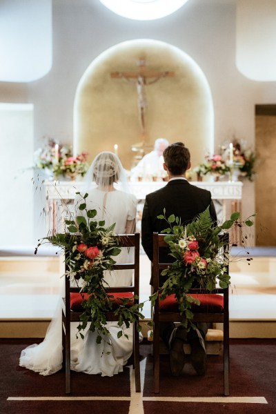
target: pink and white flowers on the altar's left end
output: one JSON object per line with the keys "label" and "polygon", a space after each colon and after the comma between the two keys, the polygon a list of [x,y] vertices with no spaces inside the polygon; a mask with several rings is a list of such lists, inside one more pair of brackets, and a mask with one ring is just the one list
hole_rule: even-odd
{"label": "pink and white flowers on the altar's left end", "polygon": [[77,157],[73,157],[72,148],[59,145],[54,139],[48,139],[46,146],[34,152],[33,168],[47,168],[55,179],[60,176],[75,179],[86,174],[89,168],[87,158],[88,152],[81,152]]}

